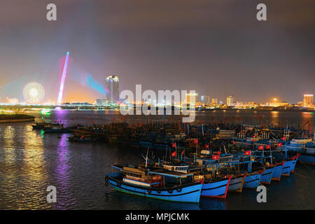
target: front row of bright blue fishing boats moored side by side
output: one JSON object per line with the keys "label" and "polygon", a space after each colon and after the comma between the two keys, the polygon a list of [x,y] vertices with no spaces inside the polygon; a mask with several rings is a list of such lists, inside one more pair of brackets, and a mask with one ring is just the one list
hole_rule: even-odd
{"label": "front row of bright blue fishing boats moored side by side", "polygon": [[[267,152],[267,153],[266,153]],[[133,195],[175,202],[200,202],[200,197],[225,199],[229,192],[257,188],[280,181],[294,172],[299,154],[286,158],[275,147],[269,151],[221,153],[204,149],[183,157],[174,151],[169,158],[143,164],[113,165],[106,186]]]}

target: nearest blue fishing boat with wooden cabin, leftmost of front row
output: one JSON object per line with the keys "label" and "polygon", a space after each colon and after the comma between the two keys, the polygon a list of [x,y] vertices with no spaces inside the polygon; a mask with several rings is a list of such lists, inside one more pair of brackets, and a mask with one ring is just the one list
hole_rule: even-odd
{"label": "nearest blue fishing boat with wooden cabin, leftmost of front row", "polygon": [[118,172],[106,175],[106,186],[123,193],[172,202],[200,202],[202,183],[193,174],[157,167],[113,165]]}

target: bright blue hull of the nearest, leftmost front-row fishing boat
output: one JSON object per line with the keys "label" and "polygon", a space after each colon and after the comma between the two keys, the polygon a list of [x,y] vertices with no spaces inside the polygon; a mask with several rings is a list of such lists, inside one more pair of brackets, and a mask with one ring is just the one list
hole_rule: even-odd
{"label": "bright blue hull of the nearest, leftmost front-row fishing boat", "polygon": [[199,203],[200,201],[202,183],[192,183],[186,186],[177,186],[176,188],[147,188],[120,181],[115,178],[118,175],[118,173],[106,175],[108,176],[108,184],[115,190],[123,193],[172,202]]}

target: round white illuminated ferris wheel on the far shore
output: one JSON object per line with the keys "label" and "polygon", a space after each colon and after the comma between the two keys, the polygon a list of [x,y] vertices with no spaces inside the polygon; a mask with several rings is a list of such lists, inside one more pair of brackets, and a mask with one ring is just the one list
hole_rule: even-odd
{"label": "round white illuminated ferris wheel on the far shore", "polygon": [[28,103],[38,104],[44,96],[45,90],[39,83],[27,83],[27,85],[23,88],[23,97]]}

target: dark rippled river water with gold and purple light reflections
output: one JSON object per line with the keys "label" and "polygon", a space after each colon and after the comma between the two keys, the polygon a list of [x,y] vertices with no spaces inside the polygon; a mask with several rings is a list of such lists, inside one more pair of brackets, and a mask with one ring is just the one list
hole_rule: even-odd
{"label": "dark rippled river water with gold and purple light reflections", "polygon": [[[52,123],[108,123],[121,116],[117,111],[52,111],[34,113]],[[259,115],[259,116],[258,116]],[[256,119],[256,117],[259,119]],[[196,120],[298,125],[310,121],[303,112],[197,112]],[[238,118],[242,118],[241,121]],[[178,119],[167,116],[126,116],[128,122]],[[31,123],[0,124],[0,209],[315,209],[315,167],[297,164],[295,173],[267,186],[267,203],[256,201],[255,190],[229,193],[226,200],[202,198],[200,204],[163,202],[105,186],[104,176],[114,163],[141,162],[146,151],[127,145],[73,143],[71,134],[43,134]],[[48,186],[57,188],[57,202],[46,201]]]}

